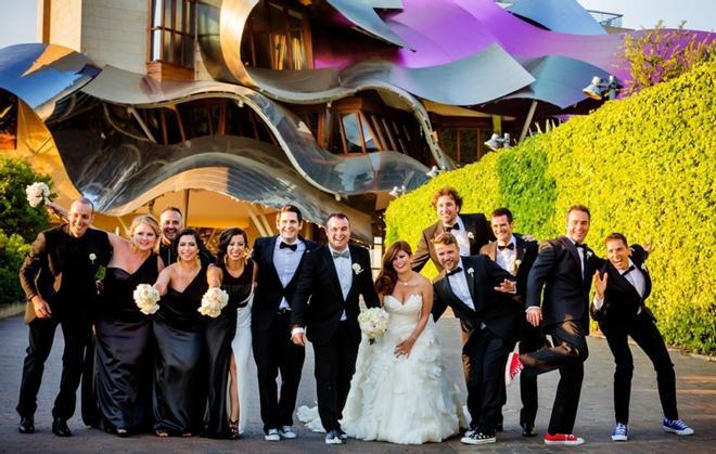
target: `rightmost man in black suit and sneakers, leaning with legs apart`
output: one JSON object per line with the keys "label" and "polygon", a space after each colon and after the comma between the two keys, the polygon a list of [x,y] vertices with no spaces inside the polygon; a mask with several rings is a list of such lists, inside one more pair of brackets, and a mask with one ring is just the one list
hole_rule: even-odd
{"label": "rightmost man in black suit and sneakers, leaning with legs apart", "polygon": [[612,233],[604,239],[606,262],[594,273],[594,299],[591,315],[606,336],[614,355],[614,412],[616,424],[612,431],[613,441],[628,440],[629,398],[634,361],[628,336],[647,353],[659,384],[664,419],[662,427],[667,432],[680,436],[693,434],[686,423],[679,419],[676,410],[676,375],[674,364],[664,345],[656,319],[647,307],[651,293],[651,277],[644,264],[648,252],[639,245],[629,248],[626,237]]}

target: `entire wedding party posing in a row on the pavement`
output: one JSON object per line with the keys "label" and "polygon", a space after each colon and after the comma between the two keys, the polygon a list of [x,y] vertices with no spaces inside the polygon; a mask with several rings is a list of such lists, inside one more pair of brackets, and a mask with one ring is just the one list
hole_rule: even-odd
{"label": "entire wedding party posing in a row on the pavement", "polygon": [[[302,212],[286,205],[277,212],[277,235],[256,238],[252,248],[242,229],[228,229],[214,256],[174,207],[158,222],[137,217],[127,239],[91,228],[86,198],[68,210],[47,203],[66,222],[38,235],[20,270],[29,328],[20,432],[35,432],[37,393],[60,325],[64,352],[52,408],[60,437],[72,434],[67,419],[81,385],[89,426],[120,437],[238,439],[254,394],[246,385],[253,352],[266,441],[296,438],[295,415],[325,432],[327,444],[420,444],[456,434],[465,444],[494,443],[506,387],[517,376],[522,434],[536,437],[537,376],[557,369],[544,442],[581,444],[574,426],[591,314],[615,362],[612,440],[629,433],[628,337],[656,371],[663,429],[693,433],[679,418],[674,365],[645,304],[648,246],[613,233],[603,239],[606,259],[598,257],[584,243],[591,218],[583,205],[567,210],[563,236],[537,242],[513,232],[507,208],[489,218],[461,213],[451,187],[431,202],[437,219],[414,254],[407,242],[393,243],[375,280],[369,250],[350,242],[350,220],[340,212],[325,220],[325,245],[301,236]],[[439,272],[433,282],[420,274],[429,261]],[[461,326],[466,411],[437,336],[448,309]],[[318,406],[296,410],[308,342]]]}

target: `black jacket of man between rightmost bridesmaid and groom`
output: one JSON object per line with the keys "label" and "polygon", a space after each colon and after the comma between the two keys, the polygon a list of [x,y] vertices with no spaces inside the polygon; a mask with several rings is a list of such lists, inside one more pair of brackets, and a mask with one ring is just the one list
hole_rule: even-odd
{"label": "black jacket of man between rightmost bridesmaid and groom", "polygon": [[306,255],[318,248],[318,245],[309,239],[298,237],[306,245],[306,250],[298,262],[296,272],[293,274],[289,284],[284,287],[273,263],[273,251],[276,242],[280,236],[265,236],[257,238],[254,243],[252,259],[257,267],[256,290],[254,294],[254,303],[252,306],[252,329],[257,332],[267,330],[279,311],[281,299],[285,298],[289,306],[293,308],[293,295],[296,289],[296,282],[301,275],[302,264]]}

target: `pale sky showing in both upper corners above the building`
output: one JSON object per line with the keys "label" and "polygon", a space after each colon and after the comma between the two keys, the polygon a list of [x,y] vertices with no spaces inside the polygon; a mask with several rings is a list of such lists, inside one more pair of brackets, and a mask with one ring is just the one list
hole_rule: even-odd
{"label": "pale sky showing in both upper corners above the building", "polygon": [[[145,0],[135,0],[145,1]],[[509,0],[508,0],[509,1]],[[627,28],[652,28],[660,20],[666,27],[687,21],[686,28],[716,30],[716,0],[577,0],[588,10],[624,14]],[[38,0],[0,0],[0,48],[36,42]]]}

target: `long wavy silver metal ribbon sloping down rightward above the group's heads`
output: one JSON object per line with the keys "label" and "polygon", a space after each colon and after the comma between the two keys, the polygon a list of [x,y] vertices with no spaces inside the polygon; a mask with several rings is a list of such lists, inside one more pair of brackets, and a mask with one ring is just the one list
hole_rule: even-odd
{"label": "long wavy silver metal ribbon sloping down rightward above the group's heads", "polygon": [[314,186],[333,194],[354,195],[409,189],[427,180],[427,167],[397,152],[337,156],[321,148],[293,113],[245,87],[214,81],[157,82],[111,66],[82,92],[113,104],[158,107],[199,98],[228,98],[252,108],[276,137],[291,164]]}

